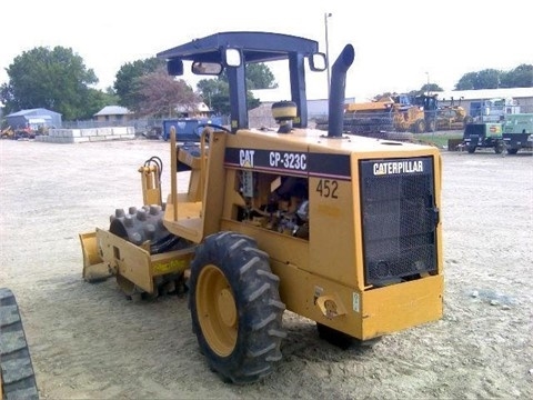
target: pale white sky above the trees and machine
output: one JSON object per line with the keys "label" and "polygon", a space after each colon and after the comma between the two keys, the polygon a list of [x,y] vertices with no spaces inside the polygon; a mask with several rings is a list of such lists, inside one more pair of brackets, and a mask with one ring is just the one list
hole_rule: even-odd
{"label": "pale white sky above the trees and machine", "polygon": [[[0,84],[9,81],[6,69],[14,58],[37,47],[71,48],[103,90],[124,63],[212,33],[250,30],[312,39],[322,52],[328,42],[331,64],[352,44],[345,94],[356,101],[426,82],[453,90],[467,72],[533,64],[524,7],[519,0],[2,1]],[[283,89],[285,71],[273,66],[272,72]],[[195,77],[183,78],[195,88]],[[308,73],[306,87],[308,99],[325,99],[326,72]]]}

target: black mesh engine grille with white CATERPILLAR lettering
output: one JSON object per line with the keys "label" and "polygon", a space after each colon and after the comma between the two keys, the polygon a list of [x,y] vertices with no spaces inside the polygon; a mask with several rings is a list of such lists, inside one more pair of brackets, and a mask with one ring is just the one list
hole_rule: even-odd
{"label": "black mesh engine grille with white CATERPILLAR lettering", "polygon": [[363,160],[360,171],[365,284],[435,272],[432,158]]}

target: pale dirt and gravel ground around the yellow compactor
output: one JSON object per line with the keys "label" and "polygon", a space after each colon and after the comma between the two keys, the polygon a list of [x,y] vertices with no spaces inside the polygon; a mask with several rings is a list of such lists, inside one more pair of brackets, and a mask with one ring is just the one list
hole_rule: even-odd
{"label": "pale dirt and gravel ground around the yellow compactor", "polygon": [[533,398],[533,157],[442,152],[442,320],[340,350],[285,312],[283,360],[223,383],[200,354],[185,298],[131,302],[81,279],[78,234],[141,206],[144,160],[168,143],[0,142],[0,287],[23,318],[42,399]]}

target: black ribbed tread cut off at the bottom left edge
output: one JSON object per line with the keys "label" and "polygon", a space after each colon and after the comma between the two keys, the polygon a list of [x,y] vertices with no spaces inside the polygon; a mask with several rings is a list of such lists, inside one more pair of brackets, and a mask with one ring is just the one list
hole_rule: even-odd
{"label": "black ribbed tread cut off at the bottom left edge", "polygon": [[4,288],[0,289],[0,372],[3,399],[39,400],[19,307]]}

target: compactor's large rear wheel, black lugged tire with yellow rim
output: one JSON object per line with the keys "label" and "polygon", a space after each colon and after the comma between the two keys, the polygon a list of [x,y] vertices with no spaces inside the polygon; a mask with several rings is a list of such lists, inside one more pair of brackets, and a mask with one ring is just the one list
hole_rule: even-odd
{"label": "compactor's large rear wheel, black lugged tire with yellow rim", "polygon": [[247,236],[211,234],[197,249],[189,284],[192,328],[210,369],[234,383],[270,374],[286,333],[269,256]]}

